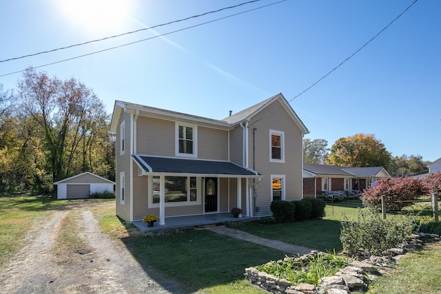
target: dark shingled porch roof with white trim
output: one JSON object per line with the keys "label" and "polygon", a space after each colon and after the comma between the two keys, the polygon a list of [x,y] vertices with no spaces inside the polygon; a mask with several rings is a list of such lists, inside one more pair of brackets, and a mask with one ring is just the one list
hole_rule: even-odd
{"label": "dark shingled porch roof with white trim", "polygon": [[262,177],[257,171],[229,161],[168,158],[139,154],[134,154],[133,158],[143,170],[143,174],[191,174],[230,178]]}

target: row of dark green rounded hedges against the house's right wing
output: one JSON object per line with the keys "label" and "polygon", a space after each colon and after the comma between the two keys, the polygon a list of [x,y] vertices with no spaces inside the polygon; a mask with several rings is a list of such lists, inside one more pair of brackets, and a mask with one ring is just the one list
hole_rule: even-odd
{"label": "row of dark green rounded hedges against the house's right wing", "polygon": [[294,222],[325,216],[325,201],[317,198],[305,198],[300,201],[274,200],[271,212],[276,222]]}

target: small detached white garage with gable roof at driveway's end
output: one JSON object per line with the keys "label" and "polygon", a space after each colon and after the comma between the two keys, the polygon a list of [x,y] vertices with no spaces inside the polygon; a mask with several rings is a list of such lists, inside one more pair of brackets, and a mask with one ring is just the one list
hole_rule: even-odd
{"label": "small detached white garage with gable roof at driveway's end", "polygon": [[89,198],[92,193],[113,193],[115,182],[86,171],[83,174],[54,182],[57,199]]}

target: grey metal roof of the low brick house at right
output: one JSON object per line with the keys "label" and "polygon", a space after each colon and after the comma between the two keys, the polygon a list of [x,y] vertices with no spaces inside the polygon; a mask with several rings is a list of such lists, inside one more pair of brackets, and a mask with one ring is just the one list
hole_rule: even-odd
{"label": "grey metal roof of the low brick house at right", "polygon": [[303,163],[303,169],[311,174],[327,176],[353,176],[356,178],[390,177],[384,167],[340,167]]}

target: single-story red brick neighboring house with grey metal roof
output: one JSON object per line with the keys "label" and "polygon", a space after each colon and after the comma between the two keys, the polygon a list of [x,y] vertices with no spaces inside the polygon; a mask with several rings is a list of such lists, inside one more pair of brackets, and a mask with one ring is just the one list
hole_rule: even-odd
{"label": "single-story red brick neighboring house with grey metal roof", "polygon": [[316,198],[325,191],[361,190],[379,178],[390,178],[384,167],[340,167],[303,164],[303,197]]}

